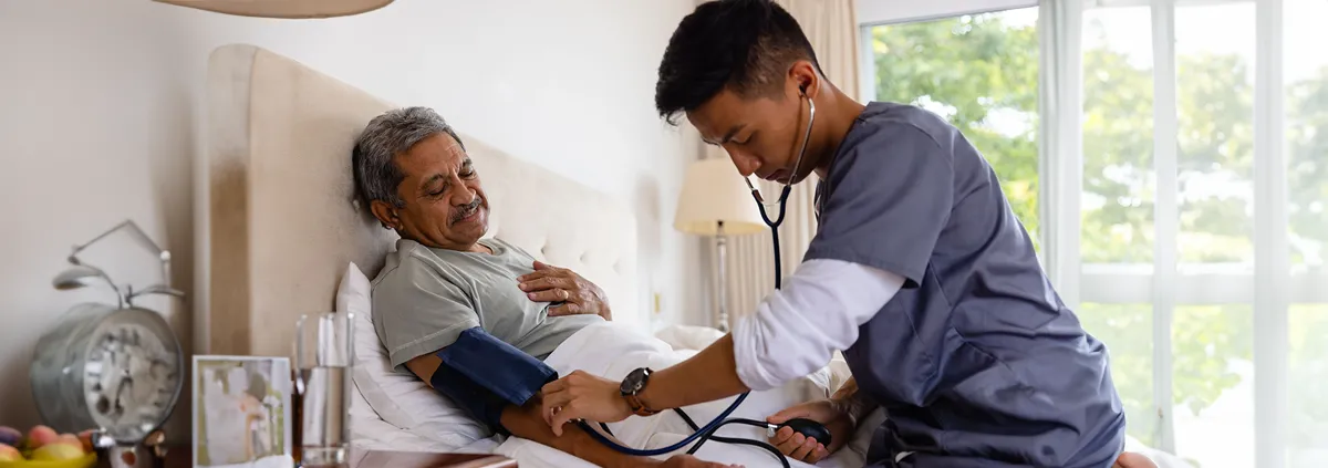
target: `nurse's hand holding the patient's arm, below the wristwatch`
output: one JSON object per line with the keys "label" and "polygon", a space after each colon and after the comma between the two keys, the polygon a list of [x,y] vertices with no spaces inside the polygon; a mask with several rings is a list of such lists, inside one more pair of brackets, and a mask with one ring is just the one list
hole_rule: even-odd
{"label": "nurse's hand holding the patient's arm, below the wristwatch", "polygon": [[540,413],[558,436],[563,435],[563,424],[576,419],[618,423],[632,415],[632,407],[619,388],[618,382],[586,371],[572,371],[544,384]]}

